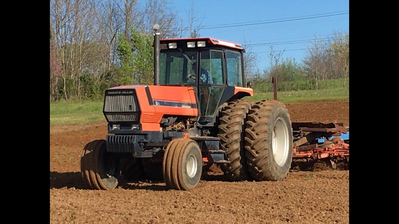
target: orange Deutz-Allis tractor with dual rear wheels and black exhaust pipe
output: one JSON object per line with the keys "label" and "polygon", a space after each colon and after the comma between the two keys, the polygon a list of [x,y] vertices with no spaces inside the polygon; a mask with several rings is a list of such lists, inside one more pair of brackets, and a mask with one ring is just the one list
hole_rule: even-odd
{"label": "orange Deutz-Allis tractor with dual rear wheels and black exhaust pipe", "polygon": [[160,39],[154,26],[154,85],[105,91],[105,140],[83,149],[91,189],[127,179],[163,179],[190,191],[203,164],[218,163],[229,180],[277,181],[291,166],[293,132],[277,100],[253,102],[239,43],[214,38]]}

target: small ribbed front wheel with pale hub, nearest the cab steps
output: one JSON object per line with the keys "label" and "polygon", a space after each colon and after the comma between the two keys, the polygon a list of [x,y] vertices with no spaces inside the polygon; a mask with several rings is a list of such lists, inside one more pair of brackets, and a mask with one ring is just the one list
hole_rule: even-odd
{"label": "small ribbed front wheel with pale hub, nearest the cab steps", "polygon": [[162,171],[166,186],[171,189],[194,189],[202,173],[202,154],[198,143],[189,138],[170,141],[165,150]]}

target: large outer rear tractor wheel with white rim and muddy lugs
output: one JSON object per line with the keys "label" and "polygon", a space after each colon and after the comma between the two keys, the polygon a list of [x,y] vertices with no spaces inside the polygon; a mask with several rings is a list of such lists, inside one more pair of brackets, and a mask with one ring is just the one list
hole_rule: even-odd
{"label": "large outer rear tractor wheel with white rim and muddy lugs", "polygon": [[280,181],[292,161],[292,127],[288,110],[277,100],[262,100],[249,110],[245,130],[249,173],[257,181]]}

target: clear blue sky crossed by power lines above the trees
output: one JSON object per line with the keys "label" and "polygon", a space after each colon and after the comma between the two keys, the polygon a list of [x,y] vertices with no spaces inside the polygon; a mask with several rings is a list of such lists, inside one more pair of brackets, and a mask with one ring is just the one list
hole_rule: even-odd
{"label": "clear blue sky crossed by power lines above the trees", "polygon": [[[176,10],[180,12],[180,16],[186,18],[191,0],[174,0],[173,2]],[[203,26],[273,20],[349,10],[349,0],[197,0],[195,5],[198,15],[205,16],[202,22]],[[315,32],[316,35],[322,35],[320,38],[323,38],[334,31],[349,32],[349,14],[271,24],[202,29],[199,33],[201,37],[214,37],[243,44],[244,38],[251,43],[307,41]],[[284,48],[286,50],[303,49],[307,48],[307,44],[283,43],[273,45],[273,48],[275,51],[284,50]],[[253,47],[253,52],[262,51],[270,51],[270,46]],[[258,53],[258,67],[261,70],[268,65],[267,55],[268,53]],[[297,61],[301,61],[303,55],[304,50],[286,51],[283,57],[293,57]]]}

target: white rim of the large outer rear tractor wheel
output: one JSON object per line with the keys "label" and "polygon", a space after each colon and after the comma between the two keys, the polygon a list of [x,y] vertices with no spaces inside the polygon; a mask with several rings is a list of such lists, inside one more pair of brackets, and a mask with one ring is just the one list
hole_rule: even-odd
{"label": "white rim of the large outer rear tractor wheel", "polygon": [[278,118],[273,128],[272,149],[273,157],[280,167],[285,164],[288,158],[288,128],[287,124]]}

